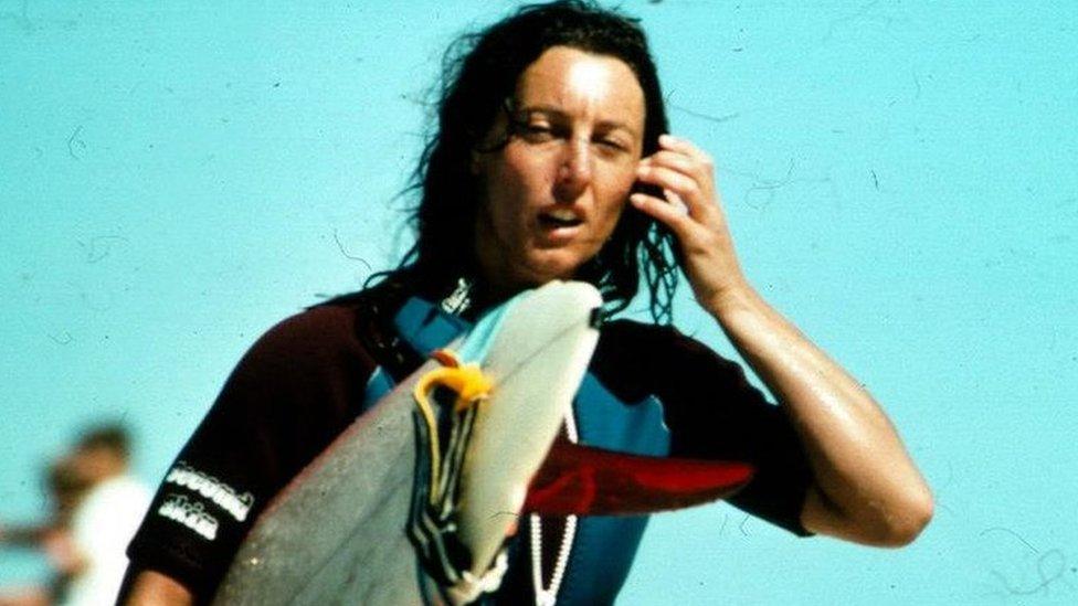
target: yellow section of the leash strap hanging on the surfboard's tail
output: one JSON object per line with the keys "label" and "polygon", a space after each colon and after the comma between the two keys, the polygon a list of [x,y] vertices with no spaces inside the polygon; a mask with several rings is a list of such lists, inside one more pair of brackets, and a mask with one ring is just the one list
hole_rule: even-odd
{"label": "yellow section of the leash strap hanging on the surfboard's tail", "polygon": [[490,389],[494,384],[483,375],[479,364],[475,362],[463,363],[459,357],[451,350],[435,350],[431,357],[437,360],[442,364],[442,368],[433,369],[421,376],[412,390],[412,395],[415,397],[415,404],[423,414],[423,419],[426,422],[427,435],[431,436],[430,500],[434,503],[441,499],[441,495],[436,493],[436,487],[438,486],[438,475],[442,465],[437,421],[434,418],[434,408],[431,406],[430,394],[437,385],[452,390],[456,393],[453,412],[458,413],[489,397]]}

